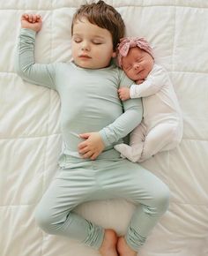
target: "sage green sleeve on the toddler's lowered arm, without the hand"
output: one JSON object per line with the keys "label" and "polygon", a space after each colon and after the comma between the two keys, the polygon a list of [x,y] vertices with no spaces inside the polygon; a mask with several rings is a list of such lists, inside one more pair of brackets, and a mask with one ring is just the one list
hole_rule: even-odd
{"label": "sage green sleeve on the toddler's lowered arm, without the hand", "polygon": [[[124,76],[121,87],[130,87],[131,84],[132,80]],[[125,137],[141,123],[142,117],[143,106],[141,99],[130,99],[123,102],[123,114],[116,118],[115,122],[100,131],[100,136],[105,146],[111,146],[119,139]]]}

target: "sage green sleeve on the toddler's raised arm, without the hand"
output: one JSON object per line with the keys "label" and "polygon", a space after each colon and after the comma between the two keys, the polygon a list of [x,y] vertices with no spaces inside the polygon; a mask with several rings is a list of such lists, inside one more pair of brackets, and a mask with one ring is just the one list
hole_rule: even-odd
{"label": "sage green sleeve on the toddler's raised arm, without the hand", "polygon": [[22,79],[49,88],[56,88],[56,64],[36,64],[34,60],[35,32],[22,28],[15,59],[16,72]]}

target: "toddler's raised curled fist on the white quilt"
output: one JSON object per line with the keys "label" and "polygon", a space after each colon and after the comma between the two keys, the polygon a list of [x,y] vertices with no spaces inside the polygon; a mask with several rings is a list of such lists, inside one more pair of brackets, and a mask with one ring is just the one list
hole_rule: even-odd
{"label": "toddler's raised curled fist on the white quilt", "polygon": [[39,14],[23,14],[21,17],[22,28],[30,28],[35,32],[39,32],[42,26],[41,15]]}

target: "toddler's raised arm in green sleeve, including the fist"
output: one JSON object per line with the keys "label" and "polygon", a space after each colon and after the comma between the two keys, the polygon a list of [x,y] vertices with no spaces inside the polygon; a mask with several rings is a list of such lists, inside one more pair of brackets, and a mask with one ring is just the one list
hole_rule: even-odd
{"label": "toddler's raised arm in green sleeve, including the fist", "polygon": [[55,88],[56,64],[35,64],[34,61],[35,34],[41,30],[41,25],[40,15],[22,15],[16,70],[22,79]]}

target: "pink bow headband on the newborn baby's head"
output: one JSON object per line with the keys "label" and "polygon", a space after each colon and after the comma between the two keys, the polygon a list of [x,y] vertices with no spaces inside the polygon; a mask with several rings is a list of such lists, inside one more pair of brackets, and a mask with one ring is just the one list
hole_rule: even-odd
{"label": "pink bow headband on the newborn baby's head", "polygon": [[122,66],[122,58],[123,56],[127,56],[130,48],[132,47],[138,47],[140,49],[144,49],[146,52],[148,52],[152,58],[154,58],[152,53],[152,48],[149,45],[148,41],[145,40],[145,38],[139,38],[139,37],[123,37],[120,39],[120,43],[118,44],[117,50],[118,50],[118,65]]}

